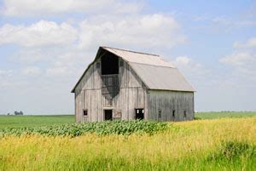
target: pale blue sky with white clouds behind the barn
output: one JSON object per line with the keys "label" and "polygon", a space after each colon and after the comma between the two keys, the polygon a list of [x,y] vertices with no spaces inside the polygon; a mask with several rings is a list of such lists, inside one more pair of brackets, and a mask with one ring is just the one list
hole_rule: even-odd
{"label": "pale blue sky with white clouds behind the barn", "polygon": [[73,113],[100,45],[175,64],[196,111],[256,111],[255,1],[0,0],[0,114]]}

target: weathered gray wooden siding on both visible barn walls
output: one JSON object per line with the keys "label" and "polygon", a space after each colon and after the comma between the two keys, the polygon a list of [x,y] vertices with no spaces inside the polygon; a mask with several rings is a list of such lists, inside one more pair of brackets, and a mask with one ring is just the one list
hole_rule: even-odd
{"label": "weathered gray wooden siding on both visible barn walls", "polygon": [[[100,62],[97,60],[96,62]],[[183,121],[194,118],[194,93],[163,90],[148,90],[136,72],[124,60],[119,66],[119,93],[112,99],[102,94],[103,83],[110,82],[111,77],[101,76],[101,67],[93,63],[75,89],[75,114],[77,122],[100,122],[104,119],[104,109],[112,109],[114,119],[131,120],[135,118],[135,109],[144,109],[144,118],[155,121]],[[102,81],[103,79],[103,81]],[[154,79],[154,78],[153,78]],[[103,92],[104,93],[104,92]],[[83,117],[83,110],[88,117]],[[159,118],[159,110],[161,118]],[[175,110],[175,117],[172,111]],[[183,117],[183,112],[187,117]]]}

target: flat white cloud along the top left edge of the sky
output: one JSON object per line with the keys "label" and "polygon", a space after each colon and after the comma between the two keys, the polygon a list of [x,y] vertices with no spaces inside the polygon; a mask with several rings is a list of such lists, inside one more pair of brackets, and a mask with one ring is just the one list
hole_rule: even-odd
{"label": "flat white cloud along the top left edge of the sky", "polygon": [[142,3],[118,0],[4,0],[3,14],[7,16],[35,16],[67,13],[135,13]]}

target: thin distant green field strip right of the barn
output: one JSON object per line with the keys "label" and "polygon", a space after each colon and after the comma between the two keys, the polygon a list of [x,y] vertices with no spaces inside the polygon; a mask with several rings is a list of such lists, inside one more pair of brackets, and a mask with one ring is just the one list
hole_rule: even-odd
{"label": "thin distant green field strip right of the barn", "polygon": [[256,111],[210,111],[195,113],[195,118],[199,119],[218,119],[223,117],[256,117]]}

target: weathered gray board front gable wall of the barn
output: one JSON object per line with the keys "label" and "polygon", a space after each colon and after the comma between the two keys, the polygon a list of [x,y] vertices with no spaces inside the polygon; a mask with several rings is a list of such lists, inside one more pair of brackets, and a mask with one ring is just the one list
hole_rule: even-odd
{"label": "weathered gray board front gable wall of the barn", "polygon": [[[116,119],[131,120],[135,118],[135,108],[144,108],[147,118],[146,88],[131,66],[119,59],[119,94],[109,100],[106,95],[102,95],[101,68],[97,67],[96,62],[86,71],[75,89],[76,121],[103,121],[104,109],[112,109],[117,116],[121,113],[121,117]],[[88,117],[83,116],[85,109],[88,110]]]}

